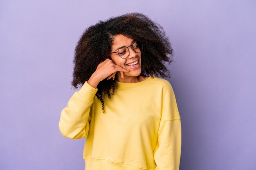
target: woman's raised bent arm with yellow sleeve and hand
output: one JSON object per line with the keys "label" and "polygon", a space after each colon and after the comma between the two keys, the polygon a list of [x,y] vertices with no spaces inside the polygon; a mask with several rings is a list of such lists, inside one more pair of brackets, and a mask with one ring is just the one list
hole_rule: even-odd
{"label": "woman's raised bent arm with yellow sleeve and hand", "polygon": [[112,60],[106,59],[101,62],[88,82],[85,82],[78,92],[75,92],[61,111],[59,129],[61,134],[71,139],[87,137],[89,131],[90,114],[93,107],[93,98],[97,92],[97,85],[100,81],[115,77],[117,71],[129,72]]}

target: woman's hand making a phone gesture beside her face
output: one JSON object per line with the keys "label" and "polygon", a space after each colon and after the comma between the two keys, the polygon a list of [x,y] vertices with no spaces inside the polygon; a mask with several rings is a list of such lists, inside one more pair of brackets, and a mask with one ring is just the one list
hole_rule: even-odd
{"label": "woman's hand making a phone gesture beside her face", "polygon": [[105,78],[107,78],[107,80],[109,80],[111,77],[114,79],[117,72],[120,72],[121,77],[124,78],[124,72],[129,71],[130,70],[116,65],[112,60],[106,59],[105,61],[99,63],[97,69],[88,80],[88,84],[96,88],[99,82],[103,81]]}

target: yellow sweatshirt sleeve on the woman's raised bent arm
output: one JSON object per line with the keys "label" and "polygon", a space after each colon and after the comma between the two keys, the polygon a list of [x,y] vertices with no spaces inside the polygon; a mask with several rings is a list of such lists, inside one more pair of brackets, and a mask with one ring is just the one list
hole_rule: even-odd
{"label": "yellow sweatshirt sleeve on the woman's raised bent arm", "polygon": [[81,139],[87,137],[93,107],[93,98],[97,92],[87,82],[76,91],[61,111],[59,130],[64,137]]}

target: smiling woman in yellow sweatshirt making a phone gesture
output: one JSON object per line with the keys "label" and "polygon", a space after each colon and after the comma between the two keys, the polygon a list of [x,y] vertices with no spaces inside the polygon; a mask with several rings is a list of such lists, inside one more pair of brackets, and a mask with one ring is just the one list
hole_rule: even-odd
{"label": "smiling woman in yellow sweatshirt making a phone gesture", "polygon": [[[85,170],[178,170],[181,124],[164,62],[173,49],[161,26],[129,13],[90,26],[74,57],[59,129],[86,137]],[[166,74],[167,72],[167,74]]]}

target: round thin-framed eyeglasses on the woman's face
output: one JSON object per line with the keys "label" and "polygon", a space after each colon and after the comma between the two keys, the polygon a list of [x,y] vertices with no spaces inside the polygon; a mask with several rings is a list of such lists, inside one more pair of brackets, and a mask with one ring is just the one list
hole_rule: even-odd
{"label": "round thin-framed eyeglasses on the woman's face", "polygon": [[[134,50],[137,53],[141,52],[143,49],[143,44],[139,43],[137,41],[134,41],[132,43],[132,45],[130,45],[130,46],[132,47],[132,50]],[[129,54],[130,54],[129,47],[130,46],[128,46],[128,47],[123,46],[123,47],[119,48],[117,50],[119,57],[121,57],[122,59],[126,59],[127,57],[129,57]],[[110,52],[110,54],[117,53],[117,52]]]}

